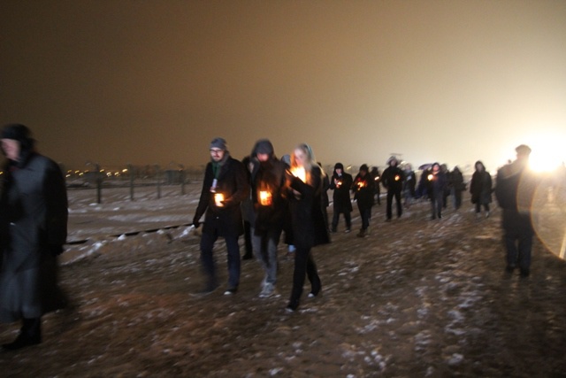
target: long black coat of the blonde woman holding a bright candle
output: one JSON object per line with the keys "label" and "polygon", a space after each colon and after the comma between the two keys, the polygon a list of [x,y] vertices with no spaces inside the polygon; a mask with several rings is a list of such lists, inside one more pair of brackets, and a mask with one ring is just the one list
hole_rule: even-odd
{"label": "long black coat of the blonde woman holding a bright candle", "polygon": [[[287,174],[289,210],[293,229],[293,244],[300,248],[330,243],[322,198],[322,171],[313,166],[307,183]],[[295,196],[293,190],[300,196]]]}

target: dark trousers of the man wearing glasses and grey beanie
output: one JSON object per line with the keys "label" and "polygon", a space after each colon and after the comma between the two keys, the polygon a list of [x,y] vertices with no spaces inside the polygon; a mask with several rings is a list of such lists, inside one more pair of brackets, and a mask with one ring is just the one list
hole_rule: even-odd
{"label": "dark trousers of the man wearing glasses and grey beanie", "polygon": [[[238,236],[226,236],[224,239],[228,253],[228,287],[237,288],[240,284],[240,246],[238,245]],[[201,260],[203,261],[204,274],[207,275],[210,287],[215,287],[218,284],[216,263],[212,251],[217,240],[218,231],[203,233],[201,237]]]}

